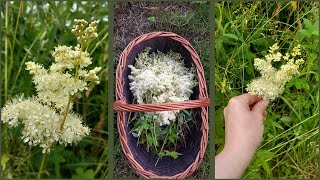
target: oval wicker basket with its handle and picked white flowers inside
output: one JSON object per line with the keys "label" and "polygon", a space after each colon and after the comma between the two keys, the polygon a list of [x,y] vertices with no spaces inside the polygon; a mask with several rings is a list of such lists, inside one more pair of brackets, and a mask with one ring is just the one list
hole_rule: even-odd
{"label": "oval wicker basket with its handle and picked white flowers inside", "polygon": [[145,178],[185,178],[208,142],[210,104],[192,45],[172,32],[143,34],[116,70],[117,127],[129,163]]}

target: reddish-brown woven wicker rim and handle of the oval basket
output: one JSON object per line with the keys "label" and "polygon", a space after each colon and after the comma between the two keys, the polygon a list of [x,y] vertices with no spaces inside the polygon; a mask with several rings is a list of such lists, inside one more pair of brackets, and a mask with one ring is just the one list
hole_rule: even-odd
{"label": "reddish-brown woven wicker rim and handle of the oval basket", "polygon": [[[128,104],[127,99],[124,96],[124,77],[123,71],[126,66],[126,60],[133,48],[141,42],[150,40],[152,38],[169,38],[180,43],[191,55],[192,63],[194,64],[197,72],[198,78],[198,88],[199,88],[199,98],[197,100],[188,100],[183,102],[168,102],[161,104]],[[116,102],[114,103],[114,110],[117,111],[117,126],[119,131],[120,143],[123,149],[125,156],[127,157],[129,163],[134,167],[134,169],[145,178],[185,178],[193,173],[200,165],[208,142],[208,105],[210,104],[206,81],[204,78],[203,67],[200,62],[200,58],[191,44],[181,36],[171,33],[171,32],[152,32],[148,34],[141,35],[131,41],[129,45],[122,52],[119,64],[116,71]],[[127,112],[155,112],[155,111],[172,111],[172,110],[183,110],[183,109],[193,109],[193,108],[201,108],[201,141],[200,141],[200,149],[197,153],[197,156],[193,163],[186,168],[183,172],[175,174],[173,176],[163,176],[159,174],[155,174],[154,172],[150,172],[145,170],[134,158],[134,154],[128,146],[128,132],[126,131],[126,114]]]}

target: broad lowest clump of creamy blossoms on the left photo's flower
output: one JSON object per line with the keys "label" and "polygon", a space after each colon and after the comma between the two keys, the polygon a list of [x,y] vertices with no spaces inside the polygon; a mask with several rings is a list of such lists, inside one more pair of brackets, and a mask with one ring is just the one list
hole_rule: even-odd
{"label": "broad lowest clump of creamy blossoms on the left photo's flower", "polygon": [[11,128],[23,124],[23,142],[33,146],[39,145],[42,153],[49,153],[50,147],[56,142],[63,145],[77,143],[90,133],[90,129],[82,124],[81,117],[74,113],[68,113],[61,130],[63,114],[44,105],[37,97],[18,97],[7,102],[2,109],[1,118],[2,122],[8,123]]}

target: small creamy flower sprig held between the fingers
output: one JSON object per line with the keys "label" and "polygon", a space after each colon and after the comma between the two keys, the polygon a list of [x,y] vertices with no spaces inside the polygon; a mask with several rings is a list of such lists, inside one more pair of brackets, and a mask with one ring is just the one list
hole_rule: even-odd
{"label": "small creamy flower sprig held between the fingers", "polygon": [[[298,68],[304,63],[303,59],[295,60],[295,57],[301,55],[301,46],[293,48],[292,52],[286,53],[283,56],[277,52],[279,46],[274,44],[270,47],[269,54],[265,59],[255,58],[254,66],[260,71],[261,77],[254,79],[247,87],[250,94],[258,95],[263,99],[276,99],[284,92],[285,84],[292,78],[293,75],[298,75]],[[272,62],[286,61],[279,69],[272,65]]]}

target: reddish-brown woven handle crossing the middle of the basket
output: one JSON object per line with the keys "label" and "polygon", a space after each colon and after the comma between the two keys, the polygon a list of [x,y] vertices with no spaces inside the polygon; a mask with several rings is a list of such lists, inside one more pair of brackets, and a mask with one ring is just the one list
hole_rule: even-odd
{"label": "reddish-brown woven handle crossing the middle of the basket", "polygon": [[116,111],[126,112],[156,112],[207,107],[209,104],[209,98],[200,98],[198,100],[181,102],[167,102],[161,104],[127,104],[124,100],[119,100],[113,103],[113,109]]}

